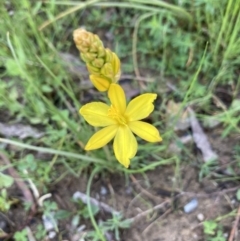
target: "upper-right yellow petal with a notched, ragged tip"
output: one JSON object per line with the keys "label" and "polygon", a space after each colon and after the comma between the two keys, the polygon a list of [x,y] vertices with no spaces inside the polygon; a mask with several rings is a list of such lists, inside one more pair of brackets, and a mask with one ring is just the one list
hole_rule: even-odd
{"label": "upper-right yellow petal with a notched, ragged tip", "polygon": [[154,105],[152,103],[156,98],[156,94],[147,93],[130,101],[125,112],[129,121],[141,120],[148,117],[154,109]]}

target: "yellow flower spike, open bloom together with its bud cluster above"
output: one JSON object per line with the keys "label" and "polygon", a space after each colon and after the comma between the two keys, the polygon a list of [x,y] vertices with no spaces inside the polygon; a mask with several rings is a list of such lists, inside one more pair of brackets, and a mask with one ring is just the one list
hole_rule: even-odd
{"label": "yellow flower spike, open bloom together with its bud cluster above", "polygon": [[99,91],[106,91],[109,99],[109,104],[92,102],[79,110],[90,125],[102,127],[89,139],[85,150],[101,148],[114,139],[116,159],[128,168],[138,148],[134,134],[148,142],[162,141],[156,127],[141,121],[154,110],[157,94],[145,93],[127,104],[124,90],[118,84],[121,74],[118,56],[104,48],[97,35],[84,29],[75,30],[73,37],[87,65],[90,80]]}

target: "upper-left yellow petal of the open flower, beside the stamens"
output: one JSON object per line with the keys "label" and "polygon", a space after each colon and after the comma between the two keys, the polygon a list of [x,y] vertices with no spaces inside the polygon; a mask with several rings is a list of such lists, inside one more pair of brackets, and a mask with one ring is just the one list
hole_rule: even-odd
{"label": "upper-left yellow petal of the open flower, beside the stamens", "polygon": [[117,122],[108,116],[109,106],[102,102],[92,102],[84,105],[80,114],[92,126],[109,126]]}

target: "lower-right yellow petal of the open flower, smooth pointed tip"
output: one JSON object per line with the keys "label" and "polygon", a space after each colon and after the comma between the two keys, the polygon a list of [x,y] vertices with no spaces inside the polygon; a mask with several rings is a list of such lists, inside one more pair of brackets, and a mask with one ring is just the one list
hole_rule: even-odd
{"label": "lower-right yellow petal of the open flower, smooth pointed tip", "polygon": [[131,131],[148,142],[162,141],[159,131],[153,125],[143,121],[132,121],[128,123]]}

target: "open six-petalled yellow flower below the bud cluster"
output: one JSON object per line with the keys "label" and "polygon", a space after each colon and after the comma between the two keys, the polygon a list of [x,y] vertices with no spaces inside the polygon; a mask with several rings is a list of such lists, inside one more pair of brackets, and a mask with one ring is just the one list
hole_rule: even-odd
{"label": "open six-petalled yellow flower below the bud cluster", "polygon": [[156,94],[142,94],[126,106],[126,97],[118,84],[111,84],[108,97],[111,106],[102,102],[92,102],[80,109],[80,114],[92,126],[104,127],[95,133],[85,146],[85,150],[94,150],[105,146],[114,138],[113,150],[117,160],[126,168],[130,159],[136,155],[137,140],[135,136],[149,142],[158,142],[162,138],[151,124],[140,121],[154,109]]}

